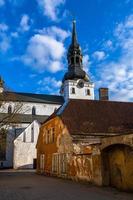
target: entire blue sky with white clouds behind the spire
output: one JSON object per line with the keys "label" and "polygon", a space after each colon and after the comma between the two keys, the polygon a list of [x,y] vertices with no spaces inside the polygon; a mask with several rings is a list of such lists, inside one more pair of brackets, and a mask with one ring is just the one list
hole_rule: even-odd
{"label": "entire blue sky with white clouds behind the spire", "polygon": [[13,91],[58,94],[72,20],[84,68],[111,100],[133,101],[133,0],[0,0],[0,75]]}

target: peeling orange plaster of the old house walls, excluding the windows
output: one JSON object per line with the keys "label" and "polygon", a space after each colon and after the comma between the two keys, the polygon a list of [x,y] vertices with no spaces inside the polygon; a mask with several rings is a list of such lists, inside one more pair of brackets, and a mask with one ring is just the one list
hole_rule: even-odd
{"label": "peeling orange plaster of the old house walls, excluding the windows", "polygon": [[[44,139],[45,131],[52,127],[55,128],[55,143],[46,144]],[[56,153],[59,156],[62,154],[67,155],[67,174],[62,174],[61,166],[59,166],[58,172],[54,175],[71,178],[73,180],[92,181],[92,147],[82,142],[74,143],[67,128],[58,117],[55,117],[41,127],[37,144],[37,171],[42,172],[40,170],[40,155],[44,154],[45,164],[43,173],[53,175],[52,156]]]}

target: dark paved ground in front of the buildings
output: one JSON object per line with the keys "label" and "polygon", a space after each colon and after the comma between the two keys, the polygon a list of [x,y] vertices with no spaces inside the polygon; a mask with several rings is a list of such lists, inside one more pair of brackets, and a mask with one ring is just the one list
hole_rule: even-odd
{"label": "dark paved ground in front of the buildings", "polygon": [[133,200],[133,193],[40,176],[33,171],[0,171],[0,200]]}

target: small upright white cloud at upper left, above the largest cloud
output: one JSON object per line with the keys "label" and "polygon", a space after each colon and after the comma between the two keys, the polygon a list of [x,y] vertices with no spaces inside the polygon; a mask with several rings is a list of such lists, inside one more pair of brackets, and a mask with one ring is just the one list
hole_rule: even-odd
{"label": "small upright white cloud at upper left, above the largest cloud", "polygon": [[20,30],[21,31],[28,31],[30,29],[30,19],[29,16],[24,14],[20,21]]}

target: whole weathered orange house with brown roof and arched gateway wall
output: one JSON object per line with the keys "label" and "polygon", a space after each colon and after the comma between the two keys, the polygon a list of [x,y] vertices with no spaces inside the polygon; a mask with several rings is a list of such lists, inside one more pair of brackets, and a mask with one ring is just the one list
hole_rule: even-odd
{"label": "whole weathered orange house with brown roof and arched gateway wall", "polygon": [[133,104],[70,100],[41,126],[37,173],[133,191]]}

